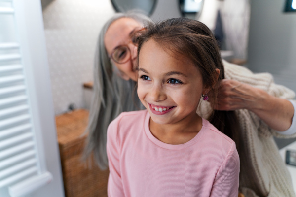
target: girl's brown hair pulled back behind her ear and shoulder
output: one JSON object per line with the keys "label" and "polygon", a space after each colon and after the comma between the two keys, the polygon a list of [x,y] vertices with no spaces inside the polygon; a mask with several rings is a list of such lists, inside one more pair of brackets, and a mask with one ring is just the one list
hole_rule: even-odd
{"label": "girl's brown hair pulled back behind her ear and shoulder", "polygon": [[[209,89],[209,101],[214,107],[217,104],[219,82],[224,79],[224,67],[211,30],[205,24],[188,18],[151,22],[139,37],[138,61],[140,50],[149,39],[153,39],[174,57],[181,56],[192,61],[201,72],[203,84]],[[218,81],[216,68],[220,69]],[[239,124],[234,111],[213,110],[209,121],[238,146]]]}

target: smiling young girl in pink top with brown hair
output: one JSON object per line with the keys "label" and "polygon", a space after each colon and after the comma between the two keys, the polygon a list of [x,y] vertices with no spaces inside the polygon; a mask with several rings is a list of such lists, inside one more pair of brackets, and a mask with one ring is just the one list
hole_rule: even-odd
{"label": "smiling young girl in pink top with brown hair", "polygon": [[223,78],[211,31],[186,18],[151,23],[138,57],[138,96],[147,110],[121,113],[109,125],[108,196],[237,197],[235,143],[196,114],[200,98],[216,104]]}

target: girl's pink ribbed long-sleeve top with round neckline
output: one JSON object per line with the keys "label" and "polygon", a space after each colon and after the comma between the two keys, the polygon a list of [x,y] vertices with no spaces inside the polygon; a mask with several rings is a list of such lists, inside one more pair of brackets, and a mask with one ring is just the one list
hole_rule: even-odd
{"label": "girl's pink ribbed long-sleeve top with round neckline", "polygon": [[107,134],[109,197],[237,197],[235,143],[207,120],[184,144],[166,144],[149,130],[147,110],[121,113]]}

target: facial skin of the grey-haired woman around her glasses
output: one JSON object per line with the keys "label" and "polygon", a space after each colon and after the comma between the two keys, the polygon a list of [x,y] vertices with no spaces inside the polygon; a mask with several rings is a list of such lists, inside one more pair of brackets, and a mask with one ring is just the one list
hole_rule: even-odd
{"label": "facial skin of the grey-haired woman around her glasses", "polygon": [[118,64],[111,60],[120,71],[120,76],[125,80],[132,79],[137,81],[138,79],[138,71],[134,69],[138,48],[130,42],[130,35],[141,28],[141,24],[134,19],[120,18],[111,23],[105,34],[104,44],[108,56],[120,45],[127,45],[131,51],[131,58],[126,63]]}

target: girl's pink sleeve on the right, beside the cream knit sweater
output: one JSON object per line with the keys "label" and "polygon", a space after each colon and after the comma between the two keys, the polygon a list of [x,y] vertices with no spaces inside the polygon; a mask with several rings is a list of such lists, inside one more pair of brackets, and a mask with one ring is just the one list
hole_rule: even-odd
{"label": "girl's pink sleeve on the right, beside the cream knit sweater", "polygon": [[239,186],[239,156],[232,143],[227,157],[218,170],[211,191],[211,197],[237,197]]}

